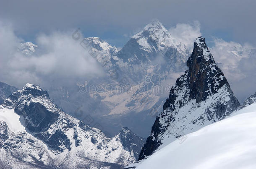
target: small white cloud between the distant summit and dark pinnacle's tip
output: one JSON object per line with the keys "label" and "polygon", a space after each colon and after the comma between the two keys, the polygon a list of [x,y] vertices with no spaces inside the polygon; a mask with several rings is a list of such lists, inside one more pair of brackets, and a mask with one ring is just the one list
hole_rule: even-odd
{"label": "small white cloud between the distant summit and dark pinnacle's tip", "polygon": [[184,43],[191,51],[193,50],[193,44],[196,38],[202,35],[200,31],[199,21],[194,21],[191,24],[178,23],[169,29],[171,36]]}

